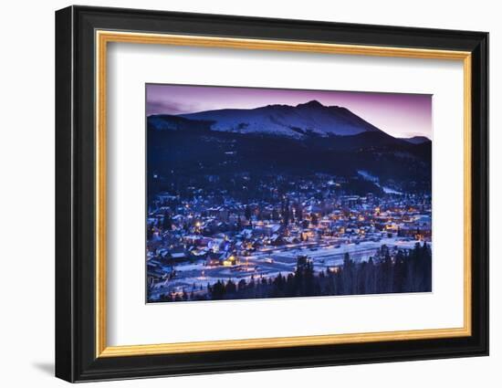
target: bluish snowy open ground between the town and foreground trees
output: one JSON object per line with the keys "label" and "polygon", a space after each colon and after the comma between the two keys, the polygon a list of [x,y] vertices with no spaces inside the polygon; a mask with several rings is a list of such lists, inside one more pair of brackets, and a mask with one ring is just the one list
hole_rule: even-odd
{"label": "bluish snowy open ground between the town and foreground trees", "polygon": [[375,255],[376,250],[386,245],[390,248],[410,249],[418,241],[406,241],[401,238],[382,238],[382,240],[365,241],[360,244],[339,244],[338,241],[323,241],[321,243],[297,244],[278,246],[257,252],[256,255],[241,257],[239,264],[231,267],[214,266],[207,267],[204,260],[196,263],[180,264],[174,267],[175,278],[158,283],[152,290],[152,299],[168,292],[193,292],[204,294],[208,284],[214,284],[218,280],[227,281],[232,279],[238,283],[241,279],[249,281],[252,277],[275,278],[280,273],[287,276],[295,271],[297,257],[306,255],[314,262],[316,271],[325,270],[328,267],[339,266],[343,263],[345,253],[355,261],[368,260]]}

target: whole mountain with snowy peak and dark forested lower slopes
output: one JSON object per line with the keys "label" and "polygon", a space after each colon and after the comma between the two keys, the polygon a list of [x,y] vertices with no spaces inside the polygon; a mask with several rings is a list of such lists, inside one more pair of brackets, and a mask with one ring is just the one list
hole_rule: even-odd
{"label": "whole mountain with snowy peak and dark forested lower slopes", "polygon": [[394,138],[346,108],[315,100],[152,115],[147,124],[148,173],[162,177],[155,184],[149,179],[149,193],[208,176],[218,176],[227,187],[243,173],[357,179],[359,171],[403,191],[430,190],[432,142]]}

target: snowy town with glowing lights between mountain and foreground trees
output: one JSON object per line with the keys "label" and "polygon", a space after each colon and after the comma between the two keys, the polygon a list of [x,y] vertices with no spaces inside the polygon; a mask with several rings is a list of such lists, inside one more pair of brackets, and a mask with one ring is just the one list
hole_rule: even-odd
{"label": "snowy town with glowing lights between mountain and foreground trees", "polygon": [[148,204],[149,302],[204,300],[216,284],[286,277],[300,259],[314,273],[336,273],[348,255],[357,263],[377,260],[382,246],[392,259],[431,246],[431,195],[380,186],[365,172],[207,174],[183,188],[153,179],[161,184]]}

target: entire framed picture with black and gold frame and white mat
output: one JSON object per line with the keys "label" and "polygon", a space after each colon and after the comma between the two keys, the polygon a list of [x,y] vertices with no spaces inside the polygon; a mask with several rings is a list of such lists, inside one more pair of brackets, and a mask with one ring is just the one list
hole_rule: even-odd
{"label": "entire framed picture with black and gold frame and white mat", "polygon": [[488,353],[488,35],[56,13],[56,375]]}

